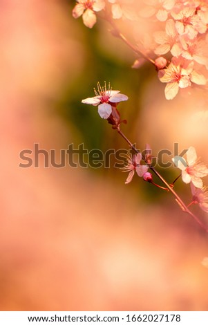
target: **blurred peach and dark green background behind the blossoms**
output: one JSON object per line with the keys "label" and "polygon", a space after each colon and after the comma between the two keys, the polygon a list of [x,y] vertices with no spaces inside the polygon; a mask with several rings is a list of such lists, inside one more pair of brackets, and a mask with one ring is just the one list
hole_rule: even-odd
{"label": "blurred peach and dark green background behind the blossoms", "polygon": [[[73,19],[74,5],[1,1],[0,308],[207,310],[207,234],[170,194],[136,176],[125,185],[113,156],[110,168],[46,168],[43,154],[39,167],[19,167],[35,143],[55,149],[56,163],[72,143],[128,149],[81,103],[104,80],[129,96],[122,129],[138,148],[149,143],[156,156],[193,145],[208,161],[207,97],[196,89],[165,100],[153,67],[131,69],[131,50],[104,21],[90,30]],[[170,183],[178,176],[160,171]],[[181,180],[176,190],[191,201]]]}

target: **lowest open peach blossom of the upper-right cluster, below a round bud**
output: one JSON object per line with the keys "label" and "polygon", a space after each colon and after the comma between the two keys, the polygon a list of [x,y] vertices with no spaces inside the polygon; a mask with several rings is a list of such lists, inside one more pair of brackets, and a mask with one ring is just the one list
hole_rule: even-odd
{"label": "lowest open peach blossom of the upper-right cluster, below a round bud", "polygon": [[191,86],[191,82],[200,85],[207,83],[204,75],[193,70],[193,64],[193,61],[186,60],[183,57],[173,57],[171,64],[158,72],[160,81],[167,83],[164,89],[167,100],[176,97],[180,88]]}

